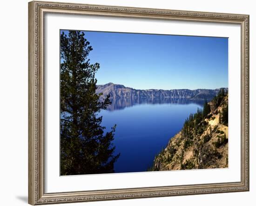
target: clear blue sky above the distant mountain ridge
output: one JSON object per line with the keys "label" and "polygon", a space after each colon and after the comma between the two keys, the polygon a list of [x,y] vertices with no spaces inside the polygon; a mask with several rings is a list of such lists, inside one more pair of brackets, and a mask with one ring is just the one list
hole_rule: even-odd
{"label": "clear blue sky above the distant mountain ridge", "polygon": [[100,63],[97,84],[135,89],[228,87],[228,38],[84,33],[93,47],[90,62]]}

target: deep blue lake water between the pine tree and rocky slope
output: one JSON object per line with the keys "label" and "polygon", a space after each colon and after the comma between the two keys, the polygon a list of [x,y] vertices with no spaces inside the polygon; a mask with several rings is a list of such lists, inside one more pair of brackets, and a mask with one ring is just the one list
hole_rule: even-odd
{"label": "deep blue lake water between the pine tree and rocky slope", "polygon": [[116,124],[113,144],[120,157],[115,162],[115,173],[147,171],[155,155],[182,129],[189,114],[203,104],[184,99],[128,102],[113,101],[108,110],[100,113],[106,131]]}

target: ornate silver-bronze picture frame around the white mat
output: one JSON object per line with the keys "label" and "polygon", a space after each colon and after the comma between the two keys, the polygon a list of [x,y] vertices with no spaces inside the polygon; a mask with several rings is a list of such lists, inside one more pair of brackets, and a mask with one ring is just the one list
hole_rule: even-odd
{"label": "ornate silver-bronze picture frame around the white mat", "polygon": [[[249,191],[249,15],[206,13],[152,8],[115,7],[32,1],[29,10],[28,59],[28,203],[31,205],[149,198],[189,194]],[[44,190],[44,15],[45,13],[96,15],[219,22],[241,26],[241,181],[201,185],[158,186],[68,193]]]}

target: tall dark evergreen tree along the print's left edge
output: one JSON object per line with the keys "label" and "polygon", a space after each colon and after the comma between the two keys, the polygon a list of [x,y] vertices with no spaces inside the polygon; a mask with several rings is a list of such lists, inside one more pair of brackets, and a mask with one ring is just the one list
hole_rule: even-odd
{"label": "tall dark evergreen tree along the print's left edge", "polygon": [[61,175],[113,173],[115,126],[104,134],[102,117],[109,96],[99,101],[95,73],[98,63],[90,64],[93,50],[80,31],[61,34]]}

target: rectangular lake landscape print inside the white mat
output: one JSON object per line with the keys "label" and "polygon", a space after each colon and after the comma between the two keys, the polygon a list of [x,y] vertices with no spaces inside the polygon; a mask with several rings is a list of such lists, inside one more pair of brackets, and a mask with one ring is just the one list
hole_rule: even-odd
{"label": "rectangular lake landscape print inside the white mat", "polygon": [[228,38],[60,30],[61,175],[229,166]]}

